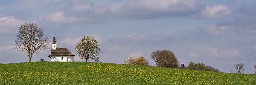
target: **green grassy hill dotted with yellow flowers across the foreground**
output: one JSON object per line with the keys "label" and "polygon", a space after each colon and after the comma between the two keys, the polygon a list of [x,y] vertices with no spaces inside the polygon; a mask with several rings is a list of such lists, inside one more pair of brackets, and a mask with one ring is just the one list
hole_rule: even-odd
{"label": "green grassy hill dotted with yellow flowers across the foreground", "polygon": [[256,85],[254,74],[94,62],[0,64],[0,85]]}

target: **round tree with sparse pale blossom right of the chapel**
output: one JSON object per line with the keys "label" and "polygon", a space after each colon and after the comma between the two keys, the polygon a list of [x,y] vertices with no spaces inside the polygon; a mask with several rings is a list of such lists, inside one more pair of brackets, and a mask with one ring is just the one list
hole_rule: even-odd
{"label": "round tree with sparse pale blossom right of the chapel", "polygon": [[94,60],[95,62],[99,61],[98,54],[100,53],[100,48],[95,37],[83,37],[78,45],[76,45],[75,49],[79,58],[85,59],[85,62],[87,62],[88,59]]}

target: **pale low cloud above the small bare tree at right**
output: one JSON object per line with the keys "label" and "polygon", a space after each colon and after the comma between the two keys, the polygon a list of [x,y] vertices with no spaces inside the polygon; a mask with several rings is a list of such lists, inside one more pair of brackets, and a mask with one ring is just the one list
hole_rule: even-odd
{"label": "pale low cloud above the small bare tree at right", "polygon": [[219,50],[217,48],[208,48],[206,54],[212,57],[239,57],[243,54],[235,48]]}

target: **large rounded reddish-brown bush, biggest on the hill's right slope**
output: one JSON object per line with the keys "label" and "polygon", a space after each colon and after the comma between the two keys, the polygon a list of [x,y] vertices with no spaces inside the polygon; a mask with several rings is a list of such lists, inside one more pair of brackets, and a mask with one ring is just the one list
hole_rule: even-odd
{"label": "large rounded reddish-brown bush, biggest on the hill's right slope", "polygon": [[179,68],[179,61],[176,59],[175,54],[169,50],[156,50],[151,54],[151,59],[159,67]]}

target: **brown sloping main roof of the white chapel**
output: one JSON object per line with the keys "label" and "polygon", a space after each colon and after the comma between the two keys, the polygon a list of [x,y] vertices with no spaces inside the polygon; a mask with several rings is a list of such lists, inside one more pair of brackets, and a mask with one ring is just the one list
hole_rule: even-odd
{"label": "brown sloping main roof of the white chapel", "polygon": [[68,48],[51,49],[51,56],[75,56]]}

